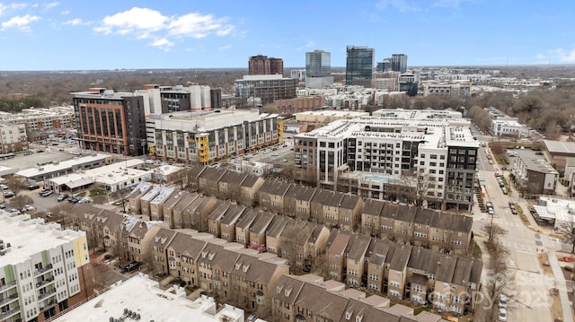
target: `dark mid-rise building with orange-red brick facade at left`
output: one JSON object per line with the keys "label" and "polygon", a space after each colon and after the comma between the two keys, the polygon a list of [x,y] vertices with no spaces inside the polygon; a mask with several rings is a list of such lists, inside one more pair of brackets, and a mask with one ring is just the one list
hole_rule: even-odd
{"label": "dark mid-rise building with orange-red brick facade at left", "polygon": [[75,126],[81,148],[123,155],[144,153],[147,103],[144,96],[103,88],[73,95]]}

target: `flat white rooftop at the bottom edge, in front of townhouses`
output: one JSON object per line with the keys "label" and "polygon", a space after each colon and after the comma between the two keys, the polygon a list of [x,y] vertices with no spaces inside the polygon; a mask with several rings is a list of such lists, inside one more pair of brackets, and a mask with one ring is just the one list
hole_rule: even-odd
{"label": "flat white rooftop at the bottom edge, in front of townhouses", "polygon": [[[183,289],[176,291],[178,294],[169,291],[159,289],[157,282],[140,273],[126,282],[113,285],[110,291],[103,292],[53,321],[122,320],[124,309],[128,309],[139,314],[140,321],[243,322],[243,309],[226,305],[216,310],[215,301],[209,297],[201,296],[192,301],[185,298]],[[135,321],[133,318],[126,320]]]}

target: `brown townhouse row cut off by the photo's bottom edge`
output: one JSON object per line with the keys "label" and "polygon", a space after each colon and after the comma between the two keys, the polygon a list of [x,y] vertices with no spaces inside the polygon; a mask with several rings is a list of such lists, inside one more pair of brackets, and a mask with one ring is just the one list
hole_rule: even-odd
{"label": "brown townhouse row cut off by the photo's bottom edge", "polygon": [[415,322],[447,321],[422,311],[396,304],[379,295],[366,297],[365,292],[346,289],[345,284],[324,281],[321,276],[283,275],[272,290],[272,315],[275,321],[334,321],[334,322]]}

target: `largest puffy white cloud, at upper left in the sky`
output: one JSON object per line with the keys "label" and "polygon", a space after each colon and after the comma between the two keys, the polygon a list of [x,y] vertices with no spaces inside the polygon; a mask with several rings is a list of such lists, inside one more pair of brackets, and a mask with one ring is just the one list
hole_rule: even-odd
{"label": "largest puffy white cloud, at upper left in the sky", "polygon": [[[174,43],[170,38],[201,39],[212,34],[226,36],[234,30],[234,25],[227,23],[226,18],[216,18],[212,14],[165,16],[152,9],[134,7],[106,16],[102,24],[93,30],[104,35],[119,34],[136,39],[155,39],[150,46],[164,47],[170,44],[169,47],[172,47]],[[155,45],[156,43],[160,45]]]}

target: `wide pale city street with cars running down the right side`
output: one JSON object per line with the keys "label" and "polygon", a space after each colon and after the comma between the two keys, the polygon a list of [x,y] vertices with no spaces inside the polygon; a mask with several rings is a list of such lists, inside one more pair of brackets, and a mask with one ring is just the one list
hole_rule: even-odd
{"label": "wide pale city street with cars running down the right side", "polygon": [[[554,252],[568,248],[569,245],[562,243],[559,239],[550,238],[547,235],[538,233],[526,227],[518,215],[511,213],[509,201],[518,203],[530,217],[527,212],[527,203],[519,198],[517,191],[512,189],[509,195],[504,195],[499,183],[494,176],[494,172],[502,173],[509,181],[509,171],[501,171],[495,164],[489,164],[486,153],[480,148],[478,170],[482,178],[485,178],[487,197],[486,201],[491,201],[494,208],[493,218],[487,213],[481,213],[475,207],[473,210],[473,231],[482,234],[482,227],[491,222],[499,224],[508,233],[501,240],[502,244],[509,248],[509,257],[506,265],[514,276],[513,295],[517,300],[517,307],[509,309],[509,321],[553,321],[551,313],[551,298],[549,290],[558,287],[555,279],[563,279],[563,276],[551,276],[544,274],[542,266],[539,264],[537,253],[542,250],[548,254],[550,261],[556,260]],[[532,226],[536,227],[535,222]],[[481,242],[481,241],[480,241]],[[489,274],[489,271],[483,270],[483,277]],[[564,285],[564,283],[563,283]],[[560,291],[565,293],[566,291]],[[562,299],[563,300],[563,299]],[[568,301],[567,301],[568,303]],[[562,301],[563,306],[566,305]],[[563,309],[564,320],[571,321],[571,309]]]}

